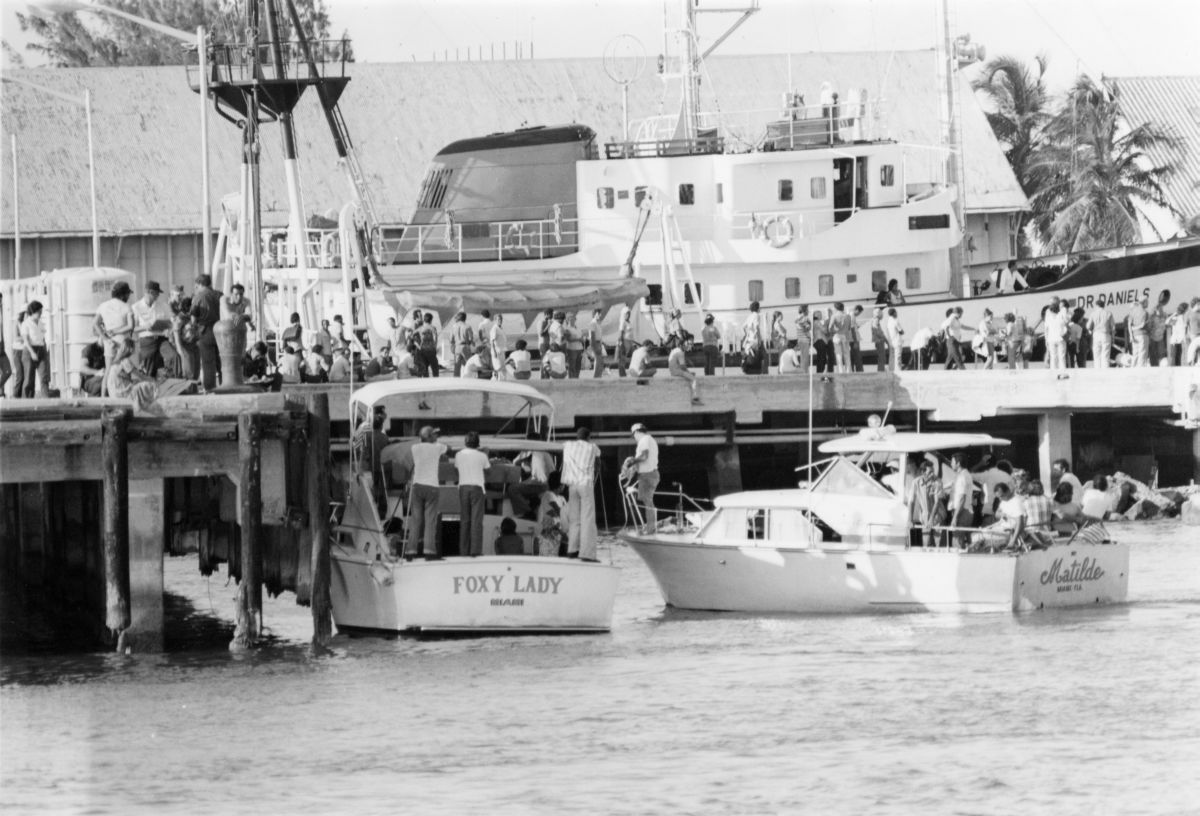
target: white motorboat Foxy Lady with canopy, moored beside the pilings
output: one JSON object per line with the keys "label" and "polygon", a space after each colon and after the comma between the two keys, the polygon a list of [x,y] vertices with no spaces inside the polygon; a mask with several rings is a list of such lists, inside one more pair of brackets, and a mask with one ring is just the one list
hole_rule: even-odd
{"label": "white motorboat Foxy Lady with canopy, moored beside the pilings", "polygon": [[[454,404],[457,413],[476,404],[472,413],[480,422],[509,416],[497,436],[484,437],[484,450],[511,450],[539,446],[536,440],[503,436],[517,422],[551,422],[553,403],[535,389],[517,383],[464,379],[407,379],[371,383],[350,397],[354,419],[372,416],[385,408],[392,418],[427,406],[437,413],[439,401]],[[509,407],[515,407],[508,410]],[[550,425],[552,427],[552,424]],[[386,470],[401,463],[414,440],[401,440],[384,449]],[[451,448],[461,442],[444,438]],[[553,443],[540,443],[541,446]],[[403,487],[389,485],[386,511],[380,516],[374,479],[384,473],[362,473],[352,452],[347,479],[346,506],[335,527],[331,547],[331,601],[334,623],[347,632],[602,632],[612,625],[613,598],[619,570],[596,562],[533,554],[534,522],[517,520],[517,534],[527,554],[494,553],[493,542],[505,515],[512,516],[504,496],[511,469],[503,464],[488,468],[487,502],[484,516],[484,554],[462,557],[450,541],[458,521],[458,493],[451,484],[454,468],[442,468],[438,512],[444,558],[406,560],[403,534],[407,529],[407,497]],[[410,460],[409,460],[410,462]]]}

